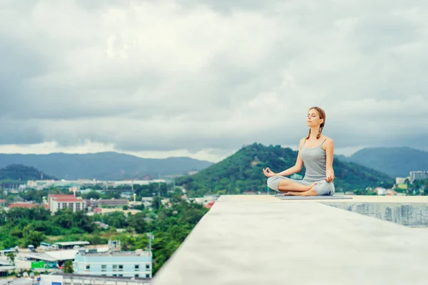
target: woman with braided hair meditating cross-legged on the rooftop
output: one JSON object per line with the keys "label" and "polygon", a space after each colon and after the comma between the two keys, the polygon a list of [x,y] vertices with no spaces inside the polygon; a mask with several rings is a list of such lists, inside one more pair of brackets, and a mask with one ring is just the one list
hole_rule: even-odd
{"label": "woman with braided hair meditating cross-legged on the rooftop", "polygon": [[[263,169],[270,189],[284,192],[285,195],[317,196],[334,195],[335,172],[333,171],[334,142],[322,135],[325,125],[325,112],[312,107],[307,113],[309,134],[300,140],[296,164],[280,173],[272,172],[269,167]],[[303,180],[294,180],[285,176],[300,172],[306,167]]]}

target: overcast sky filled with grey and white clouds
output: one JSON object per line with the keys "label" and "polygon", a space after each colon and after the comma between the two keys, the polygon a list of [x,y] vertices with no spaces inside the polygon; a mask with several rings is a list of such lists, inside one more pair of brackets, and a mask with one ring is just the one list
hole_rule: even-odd
{"label": "overcast sky filled with grey and white clouds", "polygon": [[[198,4],[195,4],[198,3]],[[428,1],[0,0],[0,152],[428,150]]]}

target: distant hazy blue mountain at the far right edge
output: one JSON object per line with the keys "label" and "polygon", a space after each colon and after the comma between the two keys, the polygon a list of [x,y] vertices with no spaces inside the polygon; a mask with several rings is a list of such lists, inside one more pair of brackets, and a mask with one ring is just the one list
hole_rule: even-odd
{"label": "distant hazy blue mountain at the far right edge", "polygon": [[428,152],[411,147],[364,148],[347,159],[391,177],[407,177],[410,171],[428,170]]}

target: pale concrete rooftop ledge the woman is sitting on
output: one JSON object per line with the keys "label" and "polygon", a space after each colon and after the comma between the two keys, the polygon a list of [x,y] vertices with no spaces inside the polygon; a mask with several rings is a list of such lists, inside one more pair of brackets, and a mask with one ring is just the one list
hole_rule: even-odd
{"label": "pale concrete rooftop ledge the woman is sitting on", "polygon": [[423,222],[428,197],[352,198],[222,196],[152,284],[428,284],[428,230],[365,215]]}

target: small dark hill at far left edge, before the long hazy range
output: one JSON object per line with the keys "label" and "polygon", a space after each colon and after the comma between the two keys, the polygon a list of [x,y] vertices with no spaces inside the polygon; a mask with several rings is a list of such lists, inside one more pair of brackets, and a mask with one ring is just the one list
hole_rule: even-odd
{"label": "small dark hill at far left edge, before the long hazy range", "polygon": [[[55,177],[43,174],[44,180],[55,179]],[[0,169],[0,180],[11,180],[24,182],[27,180],[40,180],[41,171],[34,167],[24,165],[8,165]]]}

